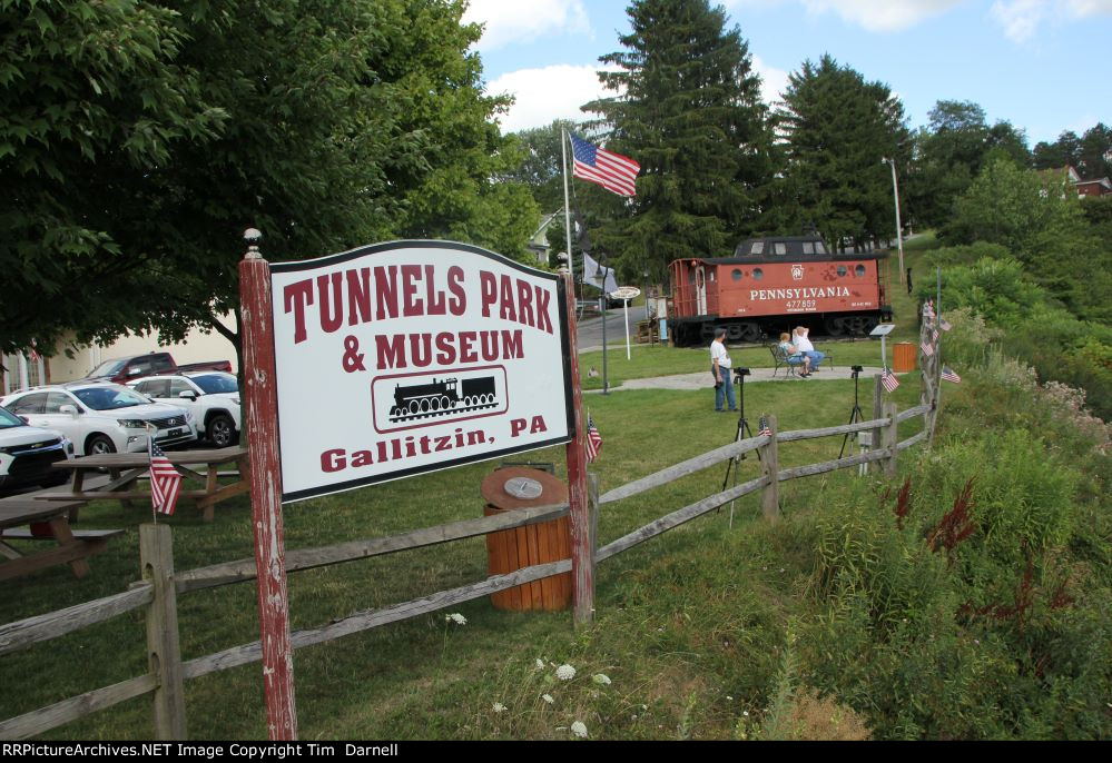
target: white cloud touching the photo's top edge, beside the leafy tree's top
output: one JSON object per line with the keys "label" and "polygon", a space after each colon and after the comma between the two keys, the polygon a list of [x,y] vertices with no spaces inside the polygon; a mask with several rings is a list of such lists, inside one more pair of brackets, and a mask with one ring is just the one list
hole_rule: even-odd
{"label": "white cloud touching the photo's top edge, beside the leafy tree's top", "polygon": [[463,21],[485,24],[475,46],[480,51],[529,42],[541,34],[590,33],[582,0],[471,0]]}

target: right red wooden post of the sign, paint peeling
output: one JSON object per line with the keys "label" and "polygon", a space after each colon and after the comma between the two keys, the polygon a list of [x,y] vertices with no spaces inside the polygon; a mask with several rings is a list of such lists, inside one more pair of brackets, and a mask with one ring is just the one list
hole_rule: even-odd
{"label": "right red wooden post of the sign, paint peeling", "polygon": [[[573,620],[577,626],[594,622],[594,549],[591,547],[591,515],[587,499],[587,448],[584,447],[583,393],[579,385],[579,355],[575,341],[575,286],[564,280],[568,300],[568,346],[571,354],[572,407],[575,432],[568,443],[568,504],[571,525],[571,585]],[[604,316],[603,316],[604,317]]]}

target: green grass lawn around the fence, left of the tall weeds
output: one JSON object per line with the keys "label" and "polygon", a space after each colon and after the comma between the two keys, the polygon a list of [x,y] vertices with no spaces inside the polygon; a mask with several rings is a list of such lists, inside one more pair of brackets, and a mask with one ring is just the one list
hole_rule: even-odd
{"label": "green grass lawn around the fence, left of the tall weeds", "polygon": [[[914,260],[914,255],[909,252]],[[908,303],[909,304],[909,303]],[[897,315],[903,309],[897,301]],[[898,319],[897,319],[898,323]],[[908,328],[914,321],[906,321]],[[901,327],[904,330],[904,327]],[[876,365],[873,341],[837,343],[837,363]],[[618,354],[614,353],[614,356]],[[764,348],[734,350],[736,363],[768,365]],[[587,354],[584,369],[600,364]],[[637,347],[633,359],[612,357],[621,378],[701,371],[706,349]],[[597,382],[597,379],[590,379]],[[908,382],[911,379],[908,378]],[[712,390],[624,392],[592,396],[591,413],[604,438],[591,469],[607,490],[734,439],[737,419],[711,412]],[[752,385],[746,404],[752,423],[775,414],[781,430],[844,424],[853,405],[849,378],[820,385]],[[918,403],[914,383],[893,398]],[[872,412],[872,383],[862,383],[862,407]],[[919,419],[901,426],[915,434]],[[842,438],[781,446],[780,466],[835,458]],[[528,454],[552,462],[565,476],[563,448]],[[493,463],[387,483],[293,504],[285,509],[288,548],[319,546],[482,515],[479,485]],[[756,458],[741,479],[757,475]],[[690,475],[649,494],[608,505],[599,541],[608,543],[721,488],[724,467]],[[348,636],[295,654],[301,737],[327,739],[567,739],[573,721],[592,737],[730,737],[766,701],[780,662],[785,630],[809,613],[798,595],[809,585],[806,517],[821,512],[829,490],[870,490],[856,469],[781,486],[784,522],[761,518],[759,496],[738,501],[734,527],[724,509],[634,547],[597,573],[598,617],[575,633],[569,613],[520,614],[488,600],[457,607],[465,626],[444,614]],[[874,498],[869,498],[874,499]],[[10,582],[0,622],[59,610],[125,591],[140,578],[138,525],[142,508],[97,502],[80,527],[121,527],[91,574],[77,581],[68,567]],[[217,507],[205,524],[183,501],[174,528],[178,571],[252,556],[250,511],[240,497]],[[315,627],[353,612],[465,585],[486,575],[482,538],[331,567],[289,577],[294,628]],[[183,656],[188,660],[258,638],[255,585],[239,584],[179,597]],[[146,672],[141,611],[0,660],[0,717],[7,719]],[[542,661],[542,667],[537,661]],[[577,677],[553,677],[552,663],[571,663]],[[604,674],[603,685],[591,676]],[[548,694],[553,702],[542,698]],[[504,712],[494,712],[501,703]],[[258,663],[186,683],[191,739],[266,735]],[[50,739],[121,740],[154,733],[149,701],[138,698],[47,734]]]}

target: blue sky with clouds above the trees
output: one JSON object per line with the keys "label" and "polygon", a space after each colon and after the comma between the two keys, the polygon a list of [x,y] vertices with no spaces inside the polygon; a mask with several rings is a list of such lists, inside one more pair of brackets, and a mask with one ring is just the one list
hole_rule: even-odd
{"label": "blue sky with clouds above the trees", "polygon": [[[471,0],[486,24],[479,42],[488,88],[518,103],[506,131],[558,117],[603,95],[599,56],[628,30],[620,0]],[[888,85],[908,126],[938,100],[980,103],[1011,121],[1030,147],[1063,130],[1112,125],[1112,0],[727,0],[749,42],[766,100],[804,60],[830,53]]]}

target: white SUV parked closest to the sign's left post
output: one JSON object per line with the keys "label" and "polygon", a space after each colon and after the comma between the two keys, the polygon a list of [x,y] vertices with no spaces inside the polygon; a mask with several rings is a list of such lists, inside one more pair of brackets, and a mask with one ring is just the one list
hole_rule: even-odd
{"label": "white SUV parked closest to the sign's left post", "polygon": [[225,448],[239,440],[239,383],[232,374],[189,371],[148,376],[128,386],[157,403],[191,413],[198,434],[216,447]]}

